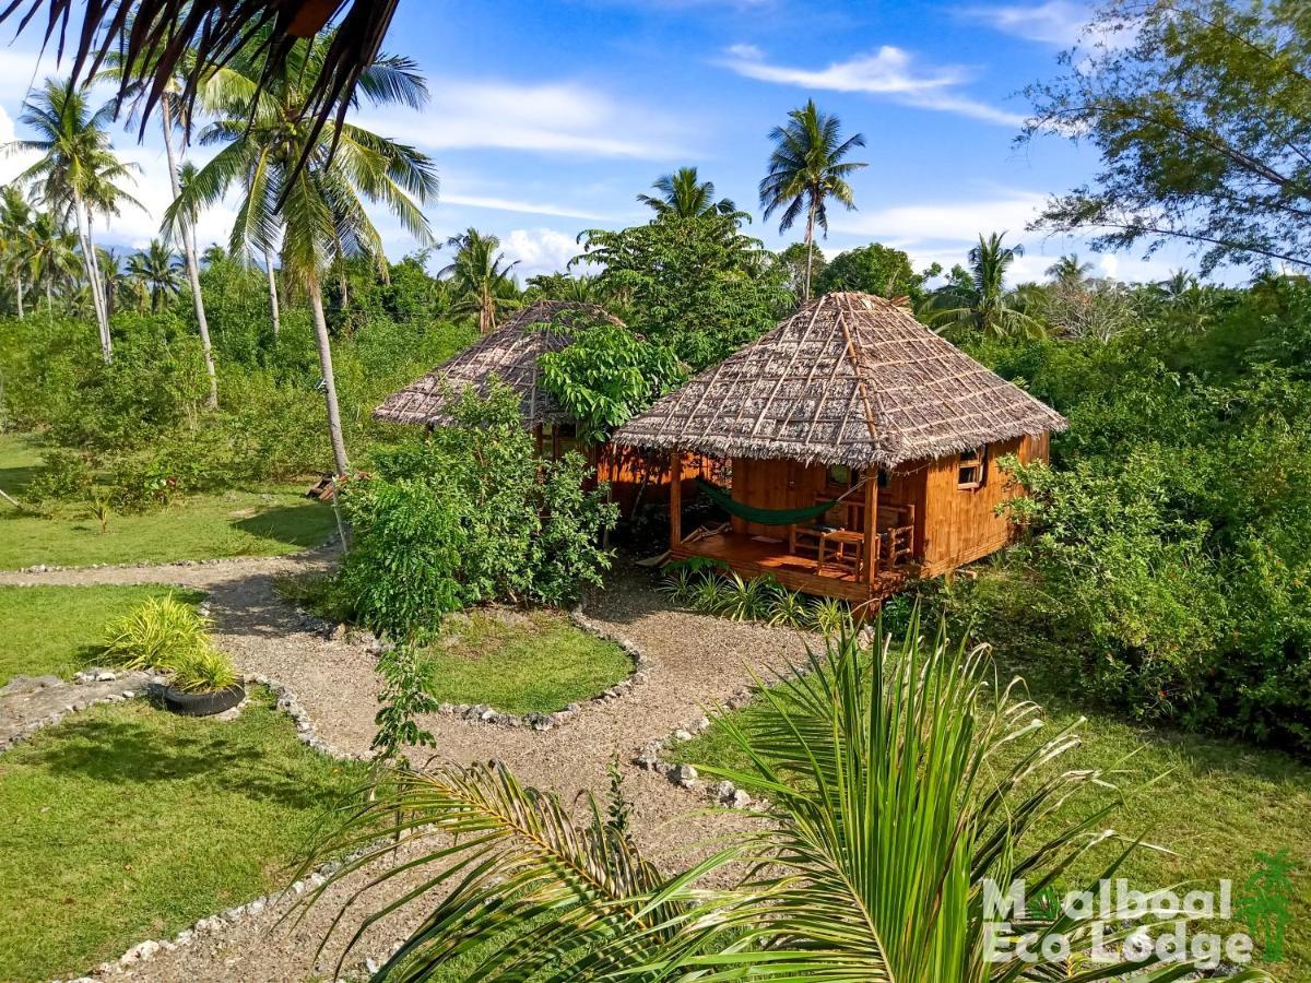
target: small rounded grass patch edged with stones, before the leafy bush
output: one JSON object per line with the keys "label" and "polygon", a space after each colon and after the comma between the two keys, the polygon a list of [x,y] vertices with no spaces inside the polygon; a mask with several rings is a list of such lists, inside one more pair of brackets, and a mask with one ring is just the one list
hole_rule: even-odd
{"label": "small rounded grass patch edged with stones, before the leafy bush", "polygon": [[475,611],[447,625],[422,657],[429,689],[443,703],[551,713],[595,696],[632,671],[617,645],[555,611]]}

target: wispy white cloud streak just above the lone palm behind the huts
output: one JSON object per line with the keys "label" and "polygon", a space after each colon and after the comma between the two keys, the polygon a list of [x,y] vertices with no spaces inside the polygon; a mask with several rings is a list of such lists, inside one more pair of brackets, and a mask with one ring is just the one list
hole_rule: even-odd
{"label": "wispy white cloud streak just above the lone palm behind the huts", "polygon": [[815,69],[771,64],[759,48],[734,45],[725,51],[724,64],[738,75],[758,81],[886,96],[905,105],[957,113],[1002,126],[1020,126],[1024,122],[1020,114],[1008,113],[962,94],[957,87],[970,76],[964,67],[920,68],[911,52],[893,45],[884,45],[873,54],[832,62],[825,68]]}

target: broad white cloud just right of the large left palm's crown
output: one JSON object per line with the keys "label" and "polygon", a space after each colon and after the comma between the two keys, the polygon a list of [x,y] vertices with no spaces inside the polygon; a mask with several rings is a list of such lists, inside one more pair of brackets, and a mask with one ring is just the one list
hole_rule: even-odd
{"label": "broad white cloud just right of the large left palm's crown", "polygon": [[497,148],[666,160],[686,151],[680,126],[576,83],[517,85],[434,80],[422,117],[363,114],[362,126],[425,149]]}

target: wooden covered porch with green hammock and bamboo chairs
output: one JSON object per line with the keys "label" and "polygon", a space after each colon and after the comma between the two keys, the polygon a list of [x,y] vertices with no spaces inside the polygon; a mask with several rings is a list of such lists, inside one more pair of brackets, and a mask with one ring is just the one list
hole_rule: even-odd
{"label": "wooden covered porch with green hammock and bamboo chairs", "polygon": [[670,456],[670,557],[708,557],[742,577],[771,575],[788,590],[852,603],[901,590],[923,550],[923,469],[888,474],[787,459],[730,460],[730,488],[705,489],[729,512],[684,528],[695,494]]}

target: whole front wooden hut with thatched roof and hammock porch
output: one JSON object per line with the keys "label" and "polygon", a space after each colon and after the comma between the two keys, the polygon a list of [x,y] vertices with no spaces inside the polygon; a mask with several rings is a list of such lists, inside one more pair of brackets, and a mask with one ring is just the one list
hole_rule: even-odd
{"label": "whole front wooden hut with thatched roof and hammock porch", "polygon": [[[869,600],[910,573],[977,560],[1009,536],[1015,489],[996,459],[1046,457],[1066,421],[867,294],[829,294],[701,372],[615,434],[615,443],[728,459],[707,492],[732,531],[671,553],[717,556],[818,594]],[[682,482],[674,484],[680,498]]]}

